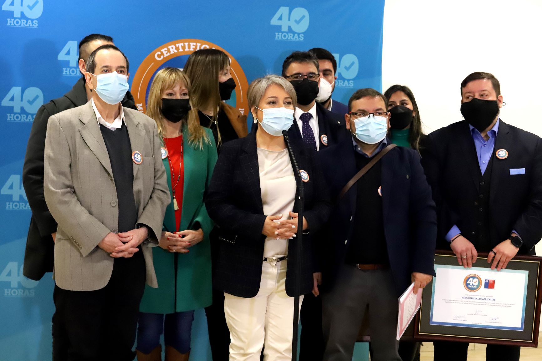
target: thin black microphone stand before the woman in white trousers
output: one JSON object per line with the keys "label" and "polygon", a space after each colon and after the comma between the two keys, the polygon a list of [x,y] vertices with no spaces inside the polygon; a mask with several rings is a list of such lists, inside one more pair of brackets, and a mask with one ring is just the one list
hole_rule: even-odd
{"label": "thin black microphone stand before the woman in white trousers", "polygon": [[298,163],[295,161],[294,153],[292,152],[292,146],[288,138],[288,132],[282,131],[282,136],[288,147],[288,153],[290,159],[294,165],[295,172],[299,178],[299,184],[297,186],[296,200],[298,201],[298,233],[294,238],[296,240],[296,254],[295,254],[295,283],[294,283],[294,321],[292,326],[292,361],[298,359],[298,330],[299,330],[299,292],[301,288],[301,243],[303,240],[303,181],[301,179],[301,173],[299,172]]}

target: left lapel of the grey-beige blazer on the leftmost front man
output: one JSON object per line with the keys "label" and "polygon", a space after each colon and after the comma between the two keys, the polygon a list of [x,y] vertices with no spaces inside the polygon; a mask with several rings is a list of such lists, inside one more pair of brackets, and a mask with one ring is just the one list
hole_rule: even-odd
{"label": "left lapel of the grey-beige blazer on the leftmost front man", "polygon": [[113,171],[111,170],[111,162],[109,161],[109,153],[105,146],[104,137],[102,137],[100,131],[100,125],[98,119],[96,119],[96,113],[92,108],[92,103],[89,101],[83,106],[79,120],[83,123],[83,126],[79,128],[79,133],[87,146],[94,153],[96,158],[100,161],[105,170],[113,177]]}

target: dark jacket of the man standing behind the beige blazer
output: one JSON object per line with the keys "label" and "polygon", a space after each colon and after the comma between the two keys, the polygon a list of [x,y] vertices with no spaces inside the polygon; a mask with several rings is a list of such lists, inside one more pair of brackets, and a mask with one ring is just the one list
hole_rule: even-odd
{"label": "dark jacket of the man standing behind the beige blazer", "polygon": [[[23,165],[23,187],[32,217],[24,251],[23,275],[32,280],[40,280],[46,272],[53,272],[54,243],[51,234],[56,232],[57,224],[43,195],[43,154],[47,121],[51,115],[85,105],[87,101],[85,81],[81,78],[68,93],[38,109],[30,130]],[[122,106],[137,110],[130,92],[127,92],[122,100]]]}

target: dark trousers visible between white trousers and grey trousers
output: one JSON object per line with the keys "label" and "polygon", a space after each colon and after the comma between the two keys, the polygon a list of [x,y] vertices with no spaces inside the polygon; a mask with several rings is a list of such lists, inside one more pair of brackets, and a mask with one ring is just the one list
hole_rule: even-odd
{"label": "dark trousers visible between white trousers and grey trousers", "polygon": [[322,333],[322,298],[306,294],[301,304],[301,339],[299,361],[322,361],[324,334]]}

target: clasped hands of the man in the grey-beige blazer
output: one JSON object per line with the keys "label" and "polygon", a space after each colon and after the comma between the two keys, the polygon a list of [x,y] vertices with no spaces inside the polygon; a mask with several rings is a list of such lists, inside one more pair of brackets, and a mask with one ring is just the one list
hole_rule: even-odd
{"label": "clasped hands of the man in the grey-beige blazer", "polygon": [[147,227],[132,229],[122,233],[109,232],[103,240],[98,243],[98,247],[109,253],[114,258],[130,258],[136,252],[139,252],[138,246],[149,236]]}

